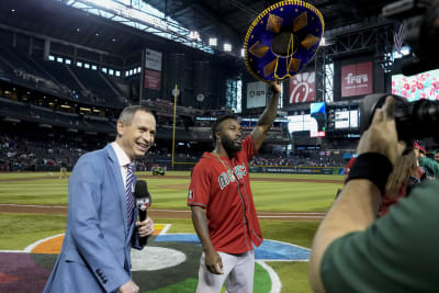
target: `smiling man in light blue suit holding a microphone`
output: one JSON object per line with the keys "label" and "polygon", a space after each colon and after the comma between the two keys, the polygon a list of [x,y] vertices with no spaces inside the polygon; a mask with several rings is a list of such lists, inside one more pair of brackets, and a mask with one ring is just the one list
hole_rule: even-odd
{"label": "smiling man in light blue suit holding a microphone", "polygon": [[131,248],[151,235],[148,217],[136,222],[133,162],[154,143],[156,120],[142,105],[125,108],[116,140],[83,155],[69,180],[67,229],[44,293],[138,292],[131,280]]}

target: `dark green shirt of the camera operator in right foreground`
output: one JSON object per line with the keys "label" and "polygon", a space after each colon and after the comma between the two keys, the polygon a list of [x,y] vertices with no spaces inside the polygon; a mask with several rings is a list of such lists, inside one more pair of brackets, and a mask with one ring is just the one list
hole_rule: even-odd
{"label": "dark green shirt of the camera operator in right foreground", "polygon": [[327,293],[439,292],[439,182],[415,187],[364,232],[336,239],[322,260]]}

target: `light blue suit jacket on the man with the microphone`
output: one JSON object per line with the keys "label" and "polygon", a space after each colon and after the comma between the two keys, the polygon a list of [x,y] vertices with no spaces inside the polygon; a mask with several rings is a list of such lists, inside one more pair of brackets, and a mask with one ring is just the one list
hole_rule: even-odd
{"label": "light blue suit jacket on the man with the microphone", "polygon": [[[121,168],[111,145],[79,158],[69,180],[67,229],[44,293],[117,292],[131,279],[131,247]],[[134,212],[137,217],[137,210]]]}

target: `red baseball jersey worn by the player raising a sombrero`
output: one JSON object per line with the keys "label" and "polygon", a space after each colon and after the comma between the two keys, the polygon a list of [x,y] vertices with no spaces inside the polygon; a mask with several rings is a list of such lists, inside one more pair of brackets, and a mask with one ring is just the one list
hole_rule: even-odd
{"label": "red baseball jersey worn by the player raising a sombrero", "polygon": [[248,160],[256,154],[251,135],[229,160],[204,153],[193,168],[188,205],[206,209],[211,241],[217,251],[243,253],[259,246],[262,233],[250,190]]}

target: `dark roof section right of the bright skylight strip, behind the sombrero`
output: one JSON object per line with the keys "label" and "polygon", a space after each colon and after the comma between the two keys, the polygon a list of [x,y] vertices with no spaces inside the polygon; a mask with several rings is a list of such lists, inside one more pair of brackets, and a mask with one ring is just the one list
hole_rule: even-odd
{"label": "dark roof section right of the bright skylight strip, behind the sombrero", "polygon": [[[335,35],[347,30],[376,25],[383,20],[381,9],[395,0],[307,0],[325,19],[325,31]],[[273,0],[144,0],[166,15],[191,27],[202,37],[217,37],[229,42],[238,53],[244,37],[256,16]],[[337,29],[336,31],[333,31]],[[223,42],[222,42],[223,41]],[[219,48],[222,49],[222,48]]]}

